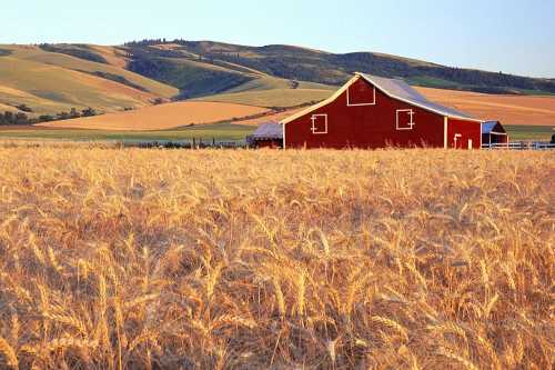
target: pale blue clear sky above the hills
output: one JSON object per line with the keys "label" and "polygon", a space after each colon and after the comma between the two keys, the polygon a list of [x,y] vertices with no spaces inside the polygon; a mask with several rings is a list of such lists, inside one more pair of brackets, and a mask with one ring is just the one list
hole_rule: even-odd
{"label": "pale blue clear sky above the hills", "polygon": [[555,78],[553,0],[21,0],[1,8],[0,43],[286,43]]}

